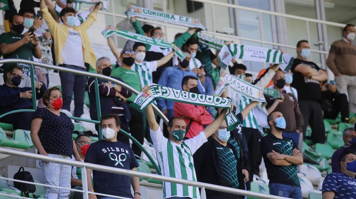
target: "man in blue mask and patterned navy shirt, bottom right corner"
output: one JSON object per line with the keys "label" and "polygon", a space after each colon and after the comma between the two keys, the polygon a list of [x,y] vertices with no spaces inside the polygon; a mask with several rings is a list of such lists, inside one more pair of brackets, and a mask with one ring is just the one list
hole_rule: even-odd
{"label": "man in blue mask and patterned navy shirt, bottom right corner", "polygon": [[323,199],[351,199],[356,196],[356,154],[352,148],[346,148],[340,156],[340,171],[330,173],[323,182]]}

